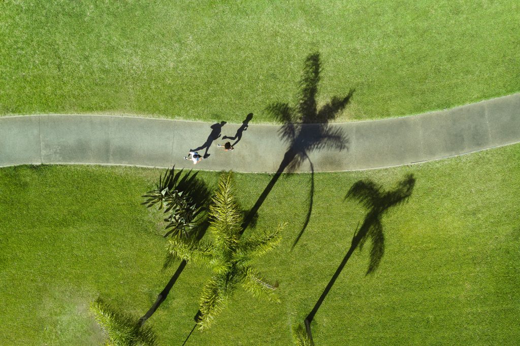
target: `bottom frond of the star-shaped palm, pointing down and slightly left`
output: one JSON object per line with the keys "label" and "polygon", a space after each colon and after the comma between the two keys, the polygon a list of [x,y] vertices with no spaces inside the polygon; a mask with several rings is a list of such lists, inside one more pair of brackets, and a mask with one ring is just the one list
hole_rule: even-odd
{"label": "bottom frond of the star-shaped palm, pointing down and slightly left", "polygon": [[229,273],[215,275],[204,285],[200,296],[201,316],[197,322],[201,330],[209,328],[215,317],[227,307],[231,286]]}

